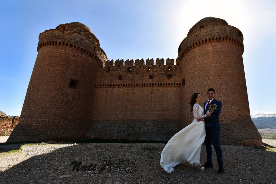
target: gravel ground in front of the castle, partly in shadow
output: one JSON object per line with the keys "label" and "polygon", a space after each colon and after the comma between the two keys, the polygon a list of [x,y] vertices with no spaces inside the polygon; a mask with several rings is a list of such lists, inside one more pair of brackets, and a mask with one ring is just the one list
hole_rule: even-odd
{"label": "gravel ground in front of the castle, partly in shadow", "polygon": [[[164,146],[164,143],[23,145],[20,152],[0,154],[0,183],[276,183],[276,152],[222,146],[223,175],[217,174],[215,152],[213,169],[201,171],[183,162],[175,167],[173,173],[166,173],[160,166]],[[129,159],[135,164],[117,161],[114,166],[110,163],[110,168],[107,166],[107,170],[101,171],[101,160],[108,161],[110,158],[113,163],[116,159]],[[204,145],[201,160],[204,164]],[[73,171],[73,165],[70,166],[73,161],[84,162],[80,168],[97,164],[96,170]],[[123,166],[126,168],[123,171],[115,168],[121,163],[127,165]]]}

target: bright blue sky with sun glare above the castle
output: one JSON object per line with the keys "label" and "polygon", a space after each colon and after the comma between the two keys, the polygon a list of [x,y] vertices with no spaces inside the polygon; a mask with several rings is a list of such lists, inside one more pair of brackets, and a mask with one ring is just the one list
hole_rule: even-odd
{"label": "bright blue sky with sun glare above the castle", "polygon": [[[204,17],[225,19],[244,35],[250,111],[276,111],[276,1],[1,1],[0,110],[20,116],[38,36],[81,22],[108,59],[177,58],[189,29]],[[238,103],[238,102],[237,102]]]}

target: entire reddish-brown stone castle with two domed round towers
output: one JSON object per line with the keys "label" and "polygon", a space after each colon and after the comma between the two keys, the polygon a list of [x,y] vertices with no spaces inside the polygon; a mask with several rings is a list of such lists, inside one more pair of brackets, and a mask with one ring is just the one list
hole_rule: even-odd
{"label": "entire reddish-brown stone castle with two domed round towers", "polygon": [[[222,144],[262,146],[249,111],[241,31],[219,18],[196,23],[178,58],[108,60],[84,24],[39,35],[20,122],[7,142],[169,140],[193,120],[189,98],[216,90]],[[202,102],[202,106],[203,106]]]}

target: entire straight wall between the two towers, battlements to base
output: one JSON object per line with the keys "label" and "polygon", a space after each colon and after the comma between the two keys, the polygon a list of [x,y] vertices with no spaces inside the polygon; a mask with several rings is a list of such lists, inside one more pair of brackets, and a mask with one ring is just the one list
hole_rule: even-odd
{"label": "entire straight wall between the two towers, battlements to base", "polygon": [[107,61],[97,73],[87,138],[170,139],[181,129],[179,76],[174,59]]}

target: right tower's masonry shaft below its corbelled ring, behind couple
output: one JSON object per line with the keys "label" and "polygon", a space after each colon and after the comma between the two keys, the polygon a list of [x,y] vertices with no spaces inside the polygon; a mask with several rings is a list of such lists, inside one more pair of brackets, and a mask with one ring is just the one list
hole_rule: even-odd
{"label": "right tower's masonry shaft below its corbelled ring, behind couple", "polygon": [[[202,55],[204,53],[204,56]],[[193,62],[191,62],[193,61]],[[231,43],[209,43],[192,49],[185,55],[186,84],[182,94],[199,92],[201,106],[208,100],[208,88],[216,90],[215,98],[222,102],[220,114],[221,141],[223,144],[259,145],[259,133],[254,126],[248,105],[241,49]],[[215,62],[213,67],[210,63]],[[183,123],[190,123],[189,96],[183,98]]]}

